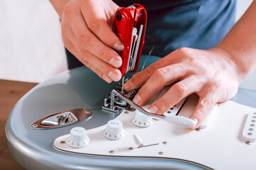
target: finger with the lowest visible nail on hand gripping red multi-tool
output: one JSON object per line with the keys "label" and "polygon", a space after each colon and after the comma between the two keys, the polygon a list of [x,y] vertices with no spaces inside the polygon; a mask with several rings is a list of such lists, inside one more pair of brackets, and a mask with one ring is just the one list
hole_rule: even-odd
{"label": "finger with the lowest visible nail on hand gripping red multi-tool", "polygon": [[82,47],[78,40],[76,40],[73,31],[68,29],[68,27],[69,26],[65,26],[65,33],[63,33],[63,35],[70,38],[73,42],[73,46],[78,52],[78,55],[75,55],[76,57],[78,57],[78,60],[80,60],[80,62],[82,62],[83,64],[87,63],[87,66],[90,63],[93,67],[97,68],[97,70],[105,74],[105,80],[107,78],[110,78],[113,81],[119,81],[119,79],[121,79],[122,77],[119,69],[112,67],[110,64],[107,64],[105,61],[101,60],[100,58],[96,57],[91,52],[86,50],[85,47]]}

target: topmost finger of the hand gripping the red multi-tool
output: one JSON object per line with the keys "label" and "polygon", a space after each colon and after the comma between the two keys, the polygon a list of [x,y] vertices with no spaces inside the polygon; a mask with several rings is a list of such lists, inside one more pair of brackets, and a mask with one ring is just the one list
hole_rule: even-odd
{"label": "topmost finger of the hand gripping the red multi-tool", "polygon": [[[92,1],[95,3],[96,1]],[[113,9],[112,15],[114,16],[114,11],[116,11],[118,6]],[[99,38],[105,45],[112,47],[114,50],[122,51],[124,50],[124,45],[122,41],[117,38],[112,29],[107,23],[105,13],[99,12],[98,8],[90,8],[90,6],[84,5],[81,8],[82,16],[85,18],[85,22],[88,28],[94,33],[97,38]],[[103,9],[102,9],[103,10]],[[88,15],[90,13],[90,15]],[[112,20],[112,18],[111,18]],[[113,22],[113,21],[112,21]]]}

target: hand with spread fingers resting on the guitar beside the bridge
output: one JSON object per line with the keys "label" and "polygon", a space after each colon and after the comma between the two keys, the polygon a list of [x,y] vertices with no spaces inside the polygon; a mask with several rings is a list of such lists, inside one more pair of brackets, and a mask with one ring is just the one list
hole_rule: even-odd
{"label": "hand with spread fingers resting on the guitar beside the bridge", "polygon": [[191,119],[196,118],[198,128],[215,103],[227,101],[238,91],[238,67],[225,50],[196,50],[180,48],[163,59],[134,74],[124,84],[126,91],[139,90],[134,102],[143,106],[164,86],[171,89],[149,107],[151,113],[164,114],[182,98],[196,93],[200,97]]}

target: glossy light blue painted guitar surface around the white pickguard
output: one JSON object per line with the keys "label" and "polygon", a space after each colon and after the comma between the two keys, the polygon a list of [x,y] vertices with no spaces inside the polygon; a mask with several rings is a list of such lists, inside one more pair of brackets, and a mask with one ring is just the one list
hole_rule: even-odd
{"label": "glossy light blue painted guitar surface around the white pickguard", "polygon": [[[144,60],[145,56],[142,56],[141,65]],[[149,57],[146,66],[156,60],[159,57]],[[127,77],[131,75],[127,74]],[[115,85],[107,84],[86,67],[63,72],[38,84],[16,103],[7,120],[6,137],[12,157],[24,169],[207,169],[201,164],[175,158],[97,157],[54,149],[53,141],[68,134],[71,128],[80,126],[89,130],[117,117],[115,113],[102,111],[104,98]],[[255,96],[255,91],[240,89],[235,101],[255,107]],[[89,109],[92,118],[49,130],[33,130],[30,127],[40,118],[74,108]]]}

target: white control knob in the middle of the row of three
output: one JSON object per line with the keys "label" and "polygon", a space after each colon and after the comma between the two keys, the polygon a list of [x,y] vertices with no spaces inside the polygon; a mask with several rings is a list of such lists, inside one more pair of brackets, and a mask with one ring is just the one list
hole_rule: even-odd
{"label": "white control knob in the middle of the row of three", "polygon": [[120,120],[110,120],[107,123],[107,128],[103,131],[103,135],[110,140],[119,140],[124,135],[124,129],[122,128],[122,122]]}

